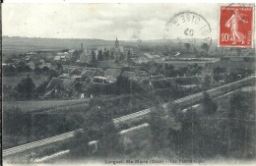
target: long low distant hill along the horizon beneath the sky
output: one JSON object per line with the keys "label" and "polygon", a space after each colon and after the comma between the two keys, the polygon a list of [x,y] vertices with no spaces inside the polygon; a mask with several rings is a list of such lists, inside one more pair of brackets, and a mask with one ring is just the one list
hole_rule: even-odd
{"label": "long low distant hill along the horizon beneath the sky", "polygon": [[[80,49],[81,43],[85,47],[94,46],[114,46],[114,40],[103,39],[89,39],[89,38],[35,38],[35,37],[10,37],[3,36],[2,38],[2,51],[4,55],[21,54],[29,51],[42,51],[42,50],[62,50],[62,49]],[[120,45],[138,44],[137,41],[119,41]],[[143,40],[140,45],[157,45],[164,44],[164,39],[156,40]],[[212,45],[217,45],[214,41]]]}

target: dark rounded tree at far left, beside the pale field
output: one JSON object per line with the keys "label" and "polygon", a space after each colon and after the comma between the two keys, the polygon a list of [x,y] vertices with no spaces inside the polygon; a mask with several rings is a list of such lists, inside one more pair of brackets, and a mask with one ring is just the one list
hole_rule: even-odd
{"label": "dark rounded tree at far left, beside the pale field", "polygon": [[17,84],[15,89],[19,95],[23,98],[31,99],[34,95],[35,85],[32,82],[32,79],[28,76],[24,78],[20,83]]}

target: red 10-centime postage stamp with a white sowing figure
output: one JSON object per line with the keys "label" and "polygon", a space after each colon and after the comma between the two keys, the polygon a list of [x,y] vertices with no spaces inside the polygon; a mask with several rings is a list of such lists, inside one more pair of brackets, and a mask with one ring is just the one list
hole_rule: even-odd
{"label": "red 10-centime postage stamp with a white sowing figure", "polygon": [[253,6],[220,6],[220,47],[253,47]]}

